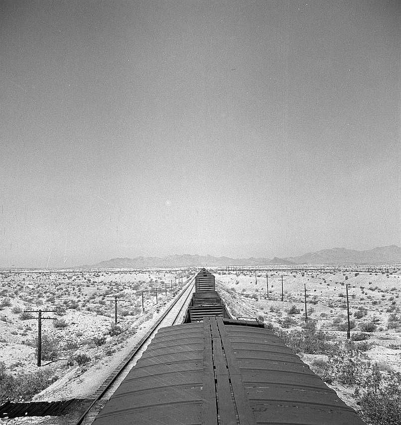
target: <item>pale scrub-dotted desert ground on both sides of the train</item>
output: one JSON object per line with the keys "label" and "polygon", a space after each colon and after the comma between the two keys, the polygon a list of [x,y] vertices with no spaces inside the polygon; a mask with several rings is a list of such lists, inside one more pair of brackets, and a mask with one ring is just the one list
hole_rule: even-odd
{"label": "pale scrub-dotted desert ground on both sides of the train", "polygon": [[[371,376],[373,365],[381,374],[400,376],[399,265],[210,270],[234,317],[263,320],[353,408],[361,409],[355,390],[363,385],[362,378]],[[0,402],[9,398],[51,401],[90,397],[186,283],[185,278],[178,284],[179,273],[182,270],[2,271]],[[348,345],[347,285],[352,340]],[[117,327],[114,295],[118,300]],[[55,310],[43,316],[57,319],[42,322],[41,368],[36,366],[35,354],[37,313],[24,313],[39,308]],[[340,363],[355,363],[356,358],[359,369],[353,374],[335,369]],[[21,383],[12,394],[4,384],[10,379]],[[8,423],[27,422],[17,418]],[[38,418],[35,423],[58,422],[54,418],[50,422],[48,418]]]}

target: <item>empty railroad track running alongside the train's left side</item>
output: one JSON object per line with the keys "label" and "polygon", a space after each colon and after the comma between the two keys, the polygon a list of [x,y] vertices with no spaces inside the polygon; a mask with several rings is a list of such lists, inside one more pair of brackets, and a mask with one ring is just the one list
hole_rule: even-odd
{"label": "empty railroad track running alongside the train's left side", "polygon": [[194,290],[195,276],[187,283],[181,293],[167,308],[157,322],[151,327],[149,332],[138,342],[138,344],[131,350],[127,357],[119,364],[119,366],[112,372],[112,374],[105,380],[94,394],[95,400],[92,401],[90,406],[81,415],[75,425],[90,425],[95,420],[97,414],[103,408],[104,404],[115,393],[117,388],[123,382],[125,377],[129,374],[131,369],[136,365],[147,346],[150,344],[154,335],[159,328],[165,326],[172,326],[180,324],[184,318],[187,303]]}

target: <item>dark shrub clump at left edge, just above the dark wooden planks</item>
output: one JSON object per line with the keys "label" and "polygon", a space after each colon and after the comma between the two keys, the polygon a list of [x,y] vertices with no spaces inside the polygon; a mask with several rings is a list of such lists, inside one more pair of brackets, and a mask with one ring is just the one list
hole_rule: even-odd
{"label": "dark shrub clump at left edge, just above the dark wooden planks", "polygon": [[0,405],[7,400],[29,401],[57,379],[52,369],[13,376],[7,373],[4,363],[0,362]]}

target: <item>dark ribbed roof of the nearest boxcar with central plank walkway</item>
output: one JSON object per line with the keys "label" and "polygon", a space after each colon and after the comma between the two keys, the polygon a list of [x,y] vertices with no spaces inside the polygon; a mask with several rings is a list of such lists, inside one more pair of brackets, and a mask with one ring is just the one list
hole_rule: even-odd
{"label": "dark ribbed roof of the nearest boxcar with central plank walkway", "polygon": [[363,425],[271,331],[220,317],[160,329],[95,425]]}

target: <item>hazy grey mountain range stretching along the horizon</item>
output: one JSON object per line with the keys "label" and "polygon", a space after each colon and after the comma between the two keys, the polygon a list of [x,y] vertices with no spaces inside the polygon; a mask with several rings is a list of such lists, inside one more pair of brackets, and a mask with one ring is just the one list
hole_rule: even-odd
{"label": "hazy grey mountain range stretching along the horizon", "polygon": [[332,248],[313,253],[307,253],[300,257],[277,258],[229,258],[213,257],[210,255],[172,255],[166,257],[135,257],[135,258],[112,258],[101,261],[85,268],[139,268],[139,267],[180,267],[180,266],[256,266],[267,264],[371,264],[371,263],[401,263],[401,248],[397,245],[377,247],[367,251],[349,250],[346,248]]}

